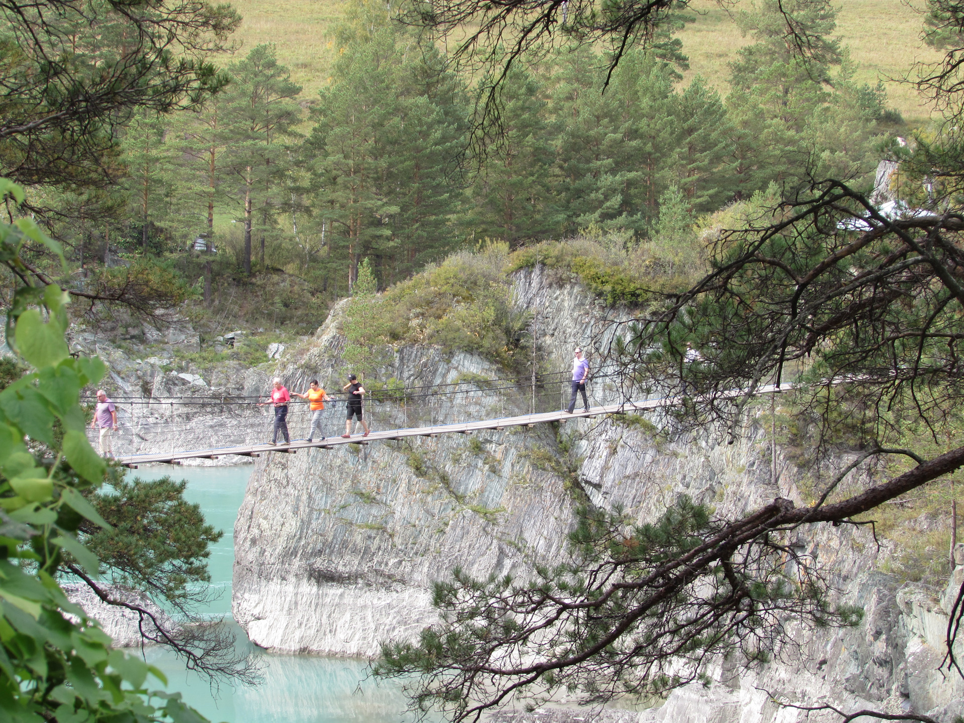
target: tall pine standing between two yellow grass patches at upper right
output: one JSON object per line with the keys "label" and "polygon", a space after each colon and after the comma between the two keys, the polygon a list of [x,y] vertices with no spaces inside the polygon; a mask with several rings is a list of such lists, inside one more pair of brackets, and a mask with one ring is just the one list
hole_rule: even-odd
{"label": "tall pine standing between two yellow grass patches at upper right", "polygon": [[[792,5],[765,0],[738,15],[757,42],[741,48],[731,64],[733,92],[726,101],[737,199],[749,198],[771,180],[792,194],[823,174],[852,176],[869,150],[872,117],[879,110],[869,107],[866,97],[859,100],[847,53],[829,38],[836,10],[823,0]],[[784,11],[794,13],[799,31],[812,43],[806,61],[786,35]],[[877,98],[870,105],[879,104]]]}

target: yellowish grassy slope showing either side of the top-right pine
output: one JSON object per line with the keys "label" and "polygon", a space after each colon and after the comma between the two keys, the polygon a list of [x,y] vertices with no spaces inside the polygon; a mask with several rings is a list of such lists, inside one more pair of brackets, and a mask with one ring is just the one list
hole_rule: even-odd
{"label": "yellowish grassy slope showing either side of the top-right pine", "polygon": [[[739,10],[740,0],[733,10]],[[915,0],[914,5],[923,5]],[[849,46],[854,61],[860,64],[860,81],[884,81],[891,105],[905,120],[927,117],[913,87],[897,82],[915,62],[938,60],[941,56],[920,40],[921,14],[907,0],[843,0],[838,7],[837,33]],[[695,0],[696,22],[680,34],[683,52],[689,56],[687,78],[701,74],[725,94],[727,63],[733,54],[752,39],[740,35],[729,13],[715,0]]]}

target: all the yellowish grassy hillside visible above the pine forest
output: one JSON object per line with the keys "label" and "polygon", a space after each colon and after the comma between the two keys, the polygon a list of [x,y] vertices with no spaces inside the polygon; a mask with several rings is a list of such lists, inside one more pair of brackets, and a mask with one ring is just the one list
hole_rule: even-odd
{"label": "all the yellowish grassy hillside visible above the pine forest", "polygon": [[[748,2],[748,0],[740,0]],[[921,5],[915,0],[915,5]],[[305,100],[312,100],[329,81],[329,67],[336,52],[328,28],[344,6],[337,0],[234,0],[244,16],[236,38],[244,54],[259,42],[273,42],[281,63],[291,68],[295,82],[304,87]],[[690,58],[688,77],[700,73],[726,93],[727,63],[749,39],[740,36],[729,14],[715,0],[696,0],[699,14],[681,34],[683,50]],[[739,3],[734,6],[738,10]],[[913,88],[899,78],[915,61],[939,56],[918,38],[921,16],[907,0],[842,0],[838,32],[860,65],[859,78],[887,84],[891,103],[904,118],[924,120],[926,109]]]}

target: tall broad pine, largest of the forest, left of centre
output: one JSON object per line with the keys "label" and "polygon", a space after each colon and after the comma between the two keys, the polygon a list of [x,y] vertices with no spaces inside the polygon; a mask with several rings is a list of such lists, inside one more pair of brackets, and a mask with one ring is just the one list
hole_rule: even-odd
{"label": "tall broad pine, largest of the forest, left of centre", "polygon": [[337,30],[346,45],[304,147],[328,262],[347,266],[348,289],[362,257],[390,281],[453,248],[450,219],[463,201],[461,82],[439,53],[413,52],[383,10],[353,6]]}

